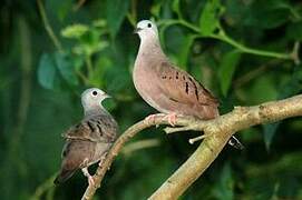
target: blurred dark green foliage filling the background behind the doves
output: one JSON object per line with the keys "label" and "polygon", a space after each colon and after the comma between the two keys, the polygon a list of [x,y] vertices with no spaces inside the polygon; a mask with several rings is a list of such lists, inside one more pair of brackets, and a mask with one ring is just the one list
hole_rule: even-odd
{"label": "blurred dark green foliage filling the background behind the doves", "polygon": [[[154,19],[165,52],[211,89],[221,112],[301,92],[302,3],[293,0],[4,0],[0,4],[0,197],[79,199],[78,172],[52,186],[60,134],[80,120],[80,92],[99,87],[125,130],[156,112],[137,94],[135,23]],[[302,199],[302,121],[244,130],[182,199]],[[120,154],[95,199],[146,199],[196,149],[148,129],[159,144]],[[92,169],[91,169],[92,170]]]}

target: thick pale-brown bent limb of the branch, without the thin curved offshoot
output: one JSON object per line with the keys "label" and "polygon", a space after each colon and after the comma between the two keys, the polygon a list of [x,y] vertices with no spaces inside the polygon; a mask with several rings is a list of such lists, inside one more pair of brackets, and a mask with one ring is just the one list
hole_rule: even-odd
{"label": "thick pale-brown bent limb of the branch, without the thin curved offshoot", "polygon": [[214,137],[205,138],[188,160],[149,199],[177,199],[215,160],[233,133],[296,116],[302,116],[302,94],[255,107],[236,107],[232,112],[210,121],[204,132]]}

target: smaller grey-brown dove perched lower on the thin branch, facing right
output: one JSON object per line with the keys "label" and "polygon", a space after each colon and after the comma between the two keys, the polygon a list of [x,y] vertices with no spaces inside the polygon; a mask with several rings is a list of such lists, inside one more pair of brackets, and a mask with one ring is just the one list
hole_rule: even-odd
{"label": "smaller grey-brown dove perched lower on the thin branch, facing right", "polygon": [[64,138],[66,143],[62,150],[61,169],[53,181],[55,184],[69,179],[78,169],[94,184],[88,167],[105,159],[117,136],[117,122],[101,106],[101,101],[109,98],[104,91],[90,88],[82,92],[81,104],[84,119],[72,126]]}

